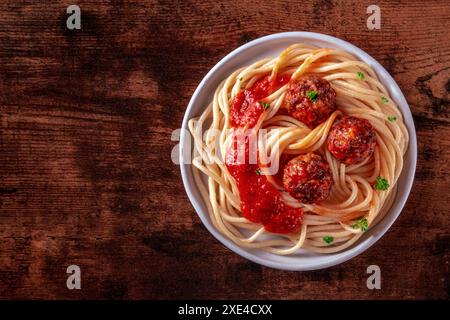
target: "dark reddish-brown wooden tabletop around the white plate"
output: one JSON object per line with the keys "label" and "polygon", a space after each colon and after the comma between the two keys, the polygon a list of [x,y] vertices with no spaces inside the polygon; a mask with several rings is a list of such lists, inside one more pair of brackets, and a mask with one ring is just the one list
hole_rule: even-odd
{"label": "dark reddish-brown wooden tabletop around the white plate", "polygon": [[[66,29],[66,7],[82,30]],[[440,298],[450,291],[450,3],[0,3],[0,297]],[[314,272],[261,267],[203,227],[170,137],[206,72],[252,39],[307,30],[381,62],[414,114],[419,156],[400,218],[372,248]],[[66,268],[82,289],[66,288]],[[379,265],[382,289],[368,290]]]}

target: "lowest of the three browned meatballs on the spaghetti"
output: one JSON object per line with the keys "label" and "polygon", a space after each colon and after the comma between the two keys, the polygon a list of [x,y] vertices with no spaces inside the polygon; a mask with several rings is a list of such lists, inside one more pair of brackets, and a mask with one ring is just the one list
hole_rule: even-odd
{"label": "lowest of the three browned meatballs on the spaghetti", "polygon": [[295,157],[284,168],[284,188],[303,203],[325,200],[332,184],[330,167],[318,154],[310,152]]}

